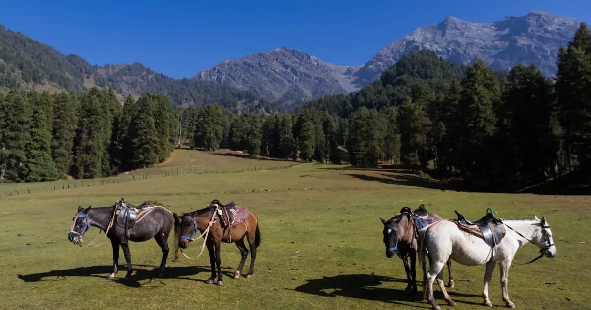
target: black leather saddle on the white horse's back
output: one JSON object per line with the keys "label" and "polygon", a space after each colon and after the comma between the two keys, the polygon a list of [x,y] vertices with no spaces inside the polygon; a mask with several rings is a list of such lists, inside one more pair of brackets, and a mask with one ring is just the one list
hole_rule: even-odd
{"label": "black leather saddle on the white horse's back", "polygon": [[495,217],[495,214],[492,213],[491,209],[486,209],[486,215],[478,221],[468,220],[457,210],[454,210],[454,212],[457,214],[457,224],[465,227],[465,229],[469,231],[475,232],[475,235],[484,239],[489,246],[496,246],[496,244],[499,244],[503,237],[505,237],[505,226],[501,219]]}

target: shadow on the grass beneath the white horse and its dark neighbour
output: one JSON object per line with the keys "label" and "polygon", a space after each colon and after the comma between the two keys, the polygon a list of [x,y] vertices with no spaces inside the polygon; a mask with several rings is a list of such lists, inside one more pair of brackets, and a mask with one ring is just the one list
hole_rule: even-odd
{"label": "shadow on the grass beneath the white horse and its dark neighbour", "polygon": [[[419,287],[418,292],[413,295],[404,289],[383,288],[380,287],[383,283],[398,282],[405,287],[406,279],[391,278],[389,276],[381,275],[367,275],[367,274],[350,274],[337,276],[323,276],[322,279],[306,280],[308,283],[300,285],[295,289],[287,289],[301,293],[307,293],[322,297],[336,297],[343,296],[349,298],[366,299],[370,301],[388,302],[391,304],[399,304],[405,306],[414,306],[416,308],[431,308],[430,304],[421,302],[423,292],[421,291],[421,282],[417,282]],[[439,294],[438,294],[439,293]],[[468,295],[448,291],[449,295],[454,297],[478,297],[477,295]],[[443,299],[443,293],[439,291],[434,292],[436,299]],[[438,296],[439,295],[439,296]],[[465,304],[478,303],[460,301]]]}

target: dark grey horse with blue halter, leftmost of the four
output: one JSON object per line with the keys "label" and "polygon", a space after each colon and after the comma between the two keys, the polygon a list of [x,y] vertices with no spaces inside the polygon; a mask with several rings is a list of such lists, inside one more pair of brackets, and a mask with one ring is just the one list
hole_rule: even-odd
{"label": "dark grey horse with blue halter, leftmost of the four", "polygon": [[[78,207],[78,211],[73,218],[74,224],[68,239],[74,244],[80,244],[84,233],[91,226],[97,227],[103,231],[109,229],[106,236],[111,239],[111,245],[113,246],[113,272],[106,279],[113,279],[115,273],[117,273],[119,246],[121,246],[125,256],[125,262],[127,262],[127,274],[125,275],[125,278],[123,278],[126,280],[133,272],[127,240],[142,242],[154,238],[162,250],[162,262],[158,268],[158,275],[162,275],[168,258],[168,236],[173,229],[174,217],[176,217],[176,214],[171,213],[163,207],[156,206],[154,210],[142,218],[141,223],[136,224],[133,229],[131,229],[129,237],[127,237],[124,232],[125,229],[119,227],[116,223],[113,223],[109,228],[109,224],[112,223],[115,207],[116,205],[100,208],[90,208],[89,206],[86,209]],[[82,246],[82,244],[80,244],[80,246]]]}

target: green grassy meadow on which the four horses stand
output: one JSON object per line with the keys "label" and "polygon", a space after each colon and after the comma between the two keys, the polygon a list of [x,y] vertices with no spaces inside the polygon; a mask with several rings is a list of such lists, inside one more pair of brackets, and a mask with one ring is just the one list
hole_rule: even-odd
{"label": "green grassy meadow on which the four horses stand", "polygon": [[[115,183],[0,184],[0,309],[430,308],[405,294],[402,261],[384,256],[378,219],[419,204],[444,218],[454,217],[454,209],[476,218],[488,207],[503,218],[546,216],[557,256],[514,264],[511,299],[520,309],[591,308],[589,197],[443,191],[440,182],[401,171],[296,164],[180,150],[164,164],[121,175]],[[285,168],[290,165],[296,166]],[[257,171],[248,171],[255,167]],[[155,177],[171,171],[174,175]],[[129,180],[131,175],[135,181]],[[73,182],[77,187],[67,190]],[[7,194],[14,190],[19,194]],[[134,204],[155,200],[177,213],[203,208],[213,199],[248,207],[258,216],[262,233],[254,276],[232,278],[239,251],[235,244],[223,244],[224,285],[206,285],[209,257],[204,253],[197,258],[201,243],[193,242],[186,250],[193,260],[171,262],[171,253],[165,275],[157,278],[152,269],[161,252],[150,240],[130,243],[135,268],[130,280],[121,280],[122,254],[123,271],[115,280],[105,280],[112,263],[108,240],[100,237],[99,247],[73,246],[67,233],[78,205],[112,205],[121,197]],[[97,233],[90,229],[85,240]],[[169,242],[174,242],[172,236]],[[537,253],[528,244],[514,262],[527,262]],[[456,288],[448,292],[455,308],[483,309],[484,266],[452,266]],[[441,306],[450,308],[439,288],[434,289]],[[498,267],[489,296],[494,305],[504,306]]]}

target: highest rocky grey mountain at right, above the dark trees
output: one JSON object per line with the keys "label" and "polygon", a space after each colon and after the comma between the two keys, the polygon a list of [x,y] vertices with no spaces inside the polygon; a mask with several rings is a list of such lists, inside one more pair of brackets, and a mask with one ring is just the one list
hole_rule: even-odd
{"label": "highest rocky grey mountain at right, above the dark trees", "polygon": [[577,27],[575,18],[539,11],[482,24],[448,17],[384,47],[356,71],[355,84],[365,86],[379,79],[400,57],[414,50],[433,50],[458,64],[482,58],[499,71],[509,71],[519,63],[535,63],[546,76],[553,76],[558,50],[567,46]]}

